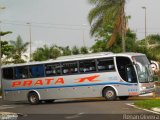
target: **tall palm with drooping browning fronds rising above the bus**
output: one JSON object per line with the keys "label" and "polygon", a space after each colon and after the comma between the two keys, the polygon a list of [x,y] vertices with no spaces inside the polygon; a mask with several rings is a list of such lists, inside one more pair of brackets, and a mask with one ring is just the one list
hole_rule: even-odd
{"label": "tall palm with drooping browning fronds rising above the bus", "polygon": [[91,35],[93,36],[97,31],[104,26],[113,25],[112,36],[107,41],[108,46],[111,47],[118,35],[122,36],[123,51],[124,34],[125,34],[125,0],[89,0],[95,7],[91,9],[88,20],[91,24]]}

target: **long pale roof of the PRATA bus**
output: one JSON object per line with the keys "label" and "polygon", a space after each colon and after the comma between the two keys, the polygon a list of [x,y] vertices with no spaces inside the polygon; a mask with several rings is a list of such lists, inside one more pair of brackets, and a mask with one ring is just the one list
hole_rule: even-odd
{"label": "long pale roof of the PRATA bus", "polygon": [[142,56],[142,53],[112,53],[112,52],[100,52],[100,53],[91,53],[91,54],[79,54],[79,55],[70,55],[70,56],[62,56],[58,57],[57,59],[50,59],[47,61],[34,61],[34,62],[27,62],[21,64],[9,64],[4,65],[2,68],[5,67],[15,67],[15,66],[26,66],[26,65],[38,65],[38,64],[47,64],[47,63],[56,63],[56,62],[67,62],[67,61],[76,61],[82,59],[92,59],[92,58],[99,58],[99,57],[114,57],[114,56]]}

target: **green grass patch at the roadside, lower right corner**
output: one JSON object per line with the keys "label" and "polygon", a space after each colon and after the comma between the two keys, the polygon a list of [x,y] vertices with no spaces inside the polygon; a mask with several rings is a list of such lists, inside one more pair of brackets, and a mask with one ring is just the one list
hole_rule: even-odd
{"label": "green grass patch at the roadside, lower right corner", "polygon": [[160,99],[136,101],[134,102],[134,104],[138,107],[147,108],[147,109],[151,109],[155,107],[160,108]]}

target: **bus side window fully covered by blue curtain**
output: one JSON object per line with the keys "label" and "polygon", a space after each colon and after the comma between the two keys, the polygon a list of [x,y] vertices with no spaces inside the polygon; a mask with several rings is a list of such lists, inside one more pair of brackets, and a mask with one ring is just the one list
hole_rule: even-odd
{"label": "bus side window fully covered by blue curtain", "polygon": [[44,66],[43,65],[29,66],[29,72],[31,78],[44,77]]}

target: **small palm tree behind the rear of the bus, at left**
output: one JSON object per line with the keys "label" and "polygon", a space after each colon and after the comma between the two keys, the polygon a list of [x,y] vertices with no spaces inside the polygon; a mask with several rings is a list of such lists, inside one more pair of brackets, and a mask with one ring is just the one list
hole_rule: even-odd
{"label": "small palm tree behind the rear of the bus, at left", "polygon": [[27,47],[29,45],[29,42],[23,43],[23,40],[20,36],[17,37],[16,41],[10,41],[11,45],[13,46],[13,51],[10,54],[10,57],[12,57],[14,63],[23,63],[25,60],[23,60],[23,56],[27,58],[24,53],[27,51]]}

